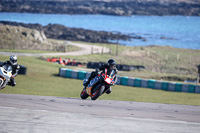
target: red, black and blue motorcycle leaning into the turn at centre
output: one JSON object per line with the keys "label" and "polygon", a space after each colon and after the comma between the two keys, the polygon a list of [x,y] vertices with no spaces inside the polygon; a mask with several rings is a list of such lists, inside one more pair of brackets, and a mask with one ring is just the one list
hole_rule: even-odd
{"label": "red, black and blue motorcycle leaning into the turn at centre", "polygon": [[[95,76],[88,86],[84,86],[80,96],[82,99],[87,99],[89,96],[92,100],[96,100],[99,96],[109,91],[106,86],[111,86],[114,84],[115,78],[114,70],[105,69],[102,73]],[[87,79],[84,79],[83,84],[87,82]]]}

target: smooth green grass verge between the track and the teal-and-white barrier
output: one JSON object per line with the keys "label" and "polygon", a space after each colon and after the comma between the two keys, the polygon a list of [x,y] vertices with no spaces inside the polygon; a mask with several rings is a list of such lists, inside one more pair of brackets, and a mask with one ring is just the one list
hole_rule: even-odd
{"label": "smooth green grass verge between the track and the teal-and-white barrier", "polygon": [[[95,55],[97,56],[97,55]],[[0,55],[0,61],[9,57]],[[82,81],[58,76],[59,68],[64,67],[39,60],[36,57],[18,57],[18,63],[27,67],[27,75],[18,75],[15,87],[7,86],[0,93],[43,95],[80,98]],[[99,99],[168,104],[200,105],[200,94],[168,92],[146,88],[116,85],[110,95]]]}

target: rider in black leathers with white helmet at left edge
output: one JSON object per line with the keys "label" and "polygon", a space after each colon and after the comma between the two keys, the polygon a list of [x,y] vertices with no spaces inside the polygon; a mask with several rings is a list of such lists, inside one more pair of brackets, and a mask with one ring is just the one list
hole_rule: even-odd
{"label": "rider in black leathers with white helmet at left edge", "polygon": [[17,76],[18,71],[20,69],[20,66],[17,64],[17,56],[11,55],[10,60],[4,62],[1,66],[6,65],[6,64],[8,64],[12,67],[12,76],[10,77],[10,82],[8,82],[8,85],[14,87],[16,85],[14,77]]}

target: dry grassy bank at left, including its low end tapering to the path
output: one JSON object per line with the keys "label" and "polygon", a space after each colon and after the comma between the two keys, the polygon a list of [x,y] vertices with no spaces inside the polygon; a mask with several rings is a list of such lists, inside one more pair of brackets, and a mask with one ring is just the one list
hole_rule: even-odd
{"label": "dry grassy bank at left, including its low end tapering to the path", "polygon": [[44,33],[37,30],[8,25],[0,25],[0,48],[58,52],[80,49],[74,46],[66,46],[64,41],[47,39]]}

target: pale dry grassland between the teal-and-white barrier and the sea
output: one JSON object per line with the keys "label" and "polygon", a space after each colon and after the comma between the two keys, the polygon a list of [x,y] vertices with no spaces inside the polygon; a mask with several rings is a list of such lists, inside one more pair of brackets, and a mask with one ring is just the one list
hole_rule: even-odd
{"label": "pale dry grassland between the teal-and-white barrier and the sea", "polygon": [[112,53],[67,56],[67,58],[76,59],[86,63],[89,61],[107,62],[108,59],[113,58],[116,60],[117,64],[143,65],[146,67],[146,69],[142,71],[121,71],[119,73],[121,76],[178,82],[196,80],[197,78],[197,65],[200,61],[199,50],[178,49],[169,46],[129,47],[119,45],[119,52],[116,56],[115,44],[86,44],[108,47],[112,50]]}

